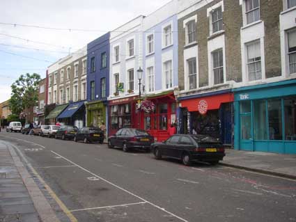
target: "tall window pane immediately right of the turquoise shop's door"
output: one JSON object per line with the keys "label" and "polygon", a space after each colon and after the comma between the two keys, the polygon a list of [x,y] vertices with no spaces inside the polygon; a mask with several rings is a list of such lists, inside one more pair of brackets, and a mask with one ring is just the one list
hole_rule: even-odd
{"label": "tall window pane immediately right of the turquoise shop's door", "polygon": [[266,100],[254,101],[254,138],[255,140],[267,139],[266,128]]}

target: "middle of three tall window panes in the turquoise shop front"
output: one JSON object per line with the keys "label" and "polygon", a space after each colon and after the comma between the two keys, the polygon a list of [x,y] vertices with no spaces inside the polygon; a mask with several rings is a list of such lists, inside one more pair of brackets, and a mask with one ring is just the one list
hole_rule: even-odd
{"label": "middle of three tall window panes in the turquoise shop front", "polygon": [[270,140],[282,140],[281,100],[268,100],[268,130]]}

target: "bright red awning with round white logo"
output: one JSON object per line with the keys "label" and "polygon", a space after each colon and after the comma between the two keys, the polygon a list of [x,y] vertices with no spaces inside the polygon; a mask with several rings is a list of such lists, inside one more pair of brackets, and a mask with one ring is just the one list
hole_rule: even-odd
{"label": "bright red awning with round white logo", "polygon": [[219,109],[221,104],[225,102],[233,102],[233,93],[182,100],[181,106],[186,107],[189,112],[199,111],[201,113],[207,110]]}

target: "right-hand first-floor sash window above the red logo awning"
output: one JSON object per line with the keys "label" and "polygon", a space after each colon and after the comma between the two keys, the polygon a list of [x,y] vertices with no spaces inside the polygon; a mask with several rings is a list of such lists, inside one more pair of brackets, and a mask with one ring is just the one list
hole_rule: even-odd
{"label": "right-hand first-floor sash window above the red logo awning", "polygon": [[223,71],[223,50],[218,49],[212,52],[214,84],[224,83],[224,71]]}

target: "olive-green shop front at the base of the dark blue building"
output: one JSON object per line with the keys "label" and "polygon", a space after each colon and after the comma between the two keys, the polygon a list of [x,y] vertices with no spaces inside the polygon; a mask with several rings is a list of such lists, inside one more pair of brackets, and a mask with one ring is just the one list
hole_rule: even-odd
{"label": "olive-green shop front at the base of the dark blue building", "polygon": [[107,126],[106,120],[106,104],[107,102],[95,101],[86,103],[86,116],[87,116],[87,125],[94,127],[100,127],[102,122]]}

